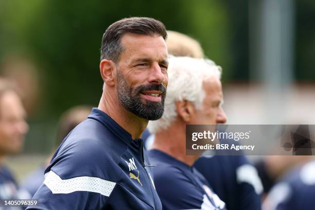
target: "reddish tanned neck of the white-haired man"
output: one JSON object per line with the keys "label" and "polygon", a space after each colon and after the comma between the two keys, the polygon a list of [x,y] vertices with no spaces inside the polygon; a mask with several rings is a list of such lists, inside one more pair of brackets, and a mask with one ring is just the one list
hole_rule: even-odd
{"label": "reddish tanned neck of the white-haired man", "polygon": [[167,130],[155,133],[155,139],[150,149],[157,149],[173,158],[193,166],[200,155],[186,155],[185,125],[174,122]]}

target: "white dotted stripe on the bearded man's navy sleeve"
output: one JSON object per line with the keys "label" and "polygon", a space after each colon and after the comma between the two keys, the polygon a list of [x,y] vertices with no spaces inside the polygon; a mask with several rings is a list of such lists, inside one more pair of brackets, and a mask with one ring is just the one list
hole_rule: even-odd
{"label": "white dotted stripe on the bearded man's navy sleeve", "polygon": [[75,191],[88,191],[109,196],[116,182],[103,180],[97,177],[75,177],[62,180],[57,173],[49,171],[45,173],[44,184],[53,194],[69,194]]}

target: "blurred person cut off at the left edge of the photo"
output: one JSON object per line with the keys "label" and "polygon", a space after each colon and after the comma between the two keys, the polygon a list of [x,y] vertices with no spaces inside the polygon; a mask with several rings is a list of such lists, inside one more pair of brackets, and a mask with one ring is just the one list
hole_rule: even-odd
{"label": "blurred person cut off at the left edge of the photo", "polygon": [[28,124],[26,112],[17,88],[0,78],[0,199],[29,199],[27,191],[20,189],[13,174],[5,165],[8,155],[19,153],[24,144]]}

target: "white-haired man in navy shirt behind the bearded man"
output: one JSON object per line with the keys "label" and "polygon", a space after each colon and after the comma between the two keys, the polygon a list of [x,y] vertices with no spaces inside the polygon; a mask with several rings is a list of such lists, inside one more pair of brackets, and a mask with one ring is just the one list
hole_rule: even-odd
{"label": "white-haired man in navy shirt behind the bearded man", "polygon": [[210,60],[169,58],[165,112],[148,124],[155,135],[149,159],[156,165],[154,182],[163,209],[226,209],[193,166],[199,155],[186,155],[185,142],[187,124],[216,125],[226,120],[220,70]]}

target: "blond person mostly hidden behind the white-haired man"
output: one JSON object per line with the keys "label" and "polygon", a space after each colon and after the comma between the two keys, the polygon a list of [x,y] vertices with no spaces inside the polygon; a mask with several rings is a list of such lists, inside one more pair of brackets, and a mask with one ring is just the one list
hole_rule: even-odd
{"label": "blond person mostly hidden behind the white-haired man", "polygon": [[[173,56],[203,58],[203,50],[199,42],[187,35],[167,31],[167,50]],[[146,141],[149,148],[154,141],[150,135]],[[231,141],[220,139],[222,144]],[[194,164],[205,177],[219,198],[225,202],[227,209],[252,210],[261,208],[263,186],[256,169],[245,155],[201,156]]]}

